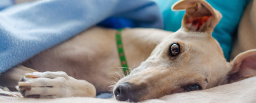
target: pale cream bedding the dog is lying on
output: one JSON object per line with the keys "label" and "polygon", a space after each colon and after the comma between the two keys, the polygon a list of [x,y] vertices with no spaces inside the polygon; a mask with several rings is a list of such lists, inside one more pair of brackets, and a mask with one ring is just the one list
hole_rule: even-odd
{"label": "pale cream bedding the dog is lying on", "polygon": [[[89,97],[69,97],[57,99],[28,99],[0,96],[3,103],[124,103],[111,99]],[[232,84],[226,84],[202,91],[176,93],[159,99],[150,99],[141,103],[256,103],[256,77],[247,78]]]}

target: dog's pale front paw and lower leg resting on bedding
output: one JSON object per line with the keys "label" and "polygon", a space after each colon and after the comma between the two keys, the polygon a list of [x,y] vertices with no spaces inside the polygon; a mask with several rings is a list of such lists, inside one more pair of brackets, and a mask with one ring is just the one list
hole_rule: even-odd
{"label": "dog's pale front paw and lower leg resting on bedding", "polygon": [[25,74],[19,82],[24,97],[95,97],[96,89],[85,80],[77,80],[65,72],[33,72]]}

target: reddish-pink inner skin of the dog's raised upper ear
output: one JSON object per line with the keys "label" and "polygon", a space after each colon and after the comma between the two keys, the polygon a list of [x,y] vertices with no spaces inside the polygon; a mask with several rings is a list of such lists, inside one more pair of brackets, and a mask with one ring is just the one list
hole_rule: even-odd
{"label": "reddish-pink inner skin of the dog's raised upper ear", "polygon": [[207,22],[208,19],[212,18],[213,16],[200,16],[200,17],[189,17],[187,19],[186,24],[189,25],[192,23],[190,28],[196,28],[196,31],[199,31],[201,29],[203,23]]}

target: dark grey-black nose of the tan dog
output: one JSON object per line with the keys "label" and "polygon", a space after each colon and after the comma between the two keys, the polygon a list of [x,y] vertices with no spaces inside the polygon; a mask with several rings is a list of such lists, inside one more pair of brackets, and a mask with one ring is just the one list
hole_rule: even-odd
{"label": "dark grey-black nose of the tan dog", "polygon": [[130,101],[130,102],[137,102],[138,98],[132,96],[132,87],[128,82],[121,83],[119,86],[114,90],[114,95],[116,100],[118,101]]}

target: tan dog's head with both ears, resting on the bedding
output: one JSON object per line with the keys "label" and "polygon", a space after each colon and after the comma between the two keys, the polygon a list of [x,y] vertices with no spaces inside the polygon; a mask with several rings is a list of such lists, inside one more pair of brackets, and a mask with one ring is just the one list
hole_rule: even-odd
{"label": "tan dog's head with both ears, resting on the bedding", "polygon": [[172,9],[186,9],[181,29],[170,34],[146,61],[118,81],[114,87],[117,100],[137,102],[205,90],[256,74],[256,65],[248,65],[256,61],[256,50],[226,62],[219,43],[211,36],[221,13],[205,0],[181,0]]}

